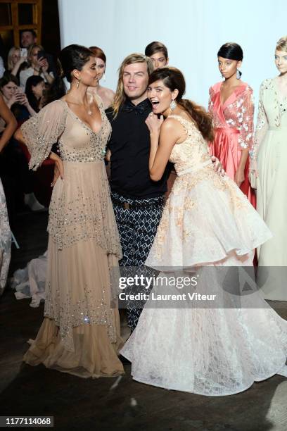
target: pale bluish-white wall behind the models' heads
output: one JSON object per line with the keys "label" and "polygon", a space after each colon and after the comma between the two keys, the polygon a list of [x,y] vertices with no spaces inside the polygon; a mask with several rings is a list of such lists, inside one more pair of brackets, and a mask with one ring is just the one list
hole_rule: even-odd
{"label": "pale bluish-white wall behind the models' heads", "polygon": [[108,58],[106,82],[115,89],[125,56],[159,40],[170,65],[186,77],[186,95],[204,106],[210,85],[221,80],[217,51],[225,42],[241,44],[242,79],[255,90],[277,74],[274,48],[287,34],[286,0],[58,0],[61,45],[100,46]]}

